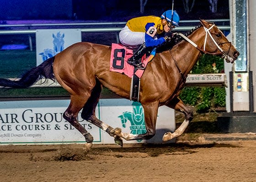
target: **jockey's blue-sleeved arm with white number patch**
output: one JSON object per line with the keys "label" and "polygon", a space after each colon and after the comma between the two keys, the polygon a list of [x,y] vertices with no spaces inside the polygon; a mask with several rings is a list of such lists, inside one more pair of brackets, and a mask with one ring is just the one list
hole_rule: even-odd
{"label": "jockey's blue-sleeved arm with white number patch", "polygon": [[[156,28],[154,30],[155,23],[147,23],[145,26],[146,33],[145,33],[145,43],[146,47],[152,47],[152,46],[158,46],[165,42],[165,38],[161,37],[159,39],[154,39],[154,36],[156,34]],[[155,32],[154,32],[155,31]]]}

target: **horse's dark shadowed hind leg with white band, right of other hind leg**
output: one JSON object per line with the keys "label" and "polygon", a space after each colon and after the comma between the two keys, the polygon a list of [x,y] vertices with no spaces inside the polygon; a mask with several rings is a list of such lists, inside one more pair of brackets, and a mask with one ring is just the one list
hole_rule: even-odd
{"label": "horse's dark shadowed hind leg with white band, right of other hind leg", "polygon": [[101,83],[98,80],[96,80],[96,85],[91,91],[91,96],[88,99],[88,101],[85,103],[85,106],[83,107],[81,117],[86,121],[91,122],[95,126],[98,126],[102,130],[106,131],[110,136],[113,136],[115,138],[115,142],[117,143],[117,145],[122,147],[123,146],[122,139],[119,136],[116,136],[110,132],[113,130],[113,128],[107,125],[106,123],[102,122],[95,116],[95,109],[100,100],[101,90],[102,90]]}

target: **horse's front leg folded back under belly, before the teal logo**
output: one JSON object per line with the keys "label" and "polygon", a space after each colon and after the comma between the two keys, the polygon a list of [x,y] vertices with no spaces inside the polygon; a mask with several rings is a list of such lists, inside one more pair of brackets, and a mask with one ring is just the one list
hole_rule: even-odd
{"label": "horse's front leg folded back under belly, before the teal logo", "polygon": [[158,113],[159,102],[142,104],[144,109],[145,127],[147,132],[144,134],[134,135],[131,133],[123,133],[120,128],[115,128],[111,131],[112,134],[120,136],[125,140],[148,140],[155,136],[155,124]]}

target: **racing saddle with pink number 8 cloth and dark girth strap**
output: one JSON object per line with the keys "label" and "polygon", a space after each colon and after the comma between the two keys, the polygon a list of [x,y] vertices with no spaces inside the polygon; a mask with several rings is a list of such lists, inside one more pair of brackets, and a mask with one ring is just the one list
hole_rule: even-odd
{"label": "racing saddle with pink number 8 cloth and dark girth strap", "polygon": [[[139,62],[142,62],[146,68],[149,61],[155,57],[155,48],[150,53],[144,54]],[[127,60],[133,56],[133,50],[131,48],[125,47],[121,44],[112,43],[111,57],[110,57],[110,71],[115,71],[118,73],[123,73],[126,76],[132,78],[130,100],[139,101],[139,84],[140,78],[142,77],[145,70],[139,70],[134,68],[134,66],[129,65]]]}

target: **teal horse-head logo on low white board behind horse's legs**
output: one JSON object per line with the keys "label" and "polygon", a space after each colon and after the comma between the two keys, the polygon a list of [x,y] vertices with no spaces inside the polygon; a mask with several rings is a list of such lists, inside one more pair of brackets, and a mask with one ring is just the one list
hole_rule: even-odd
{"label": "teal horse-head logo on low white board behind horse's legs", "polygon": [[[120,117],[122,121],[122,126],[126,127],[126,122],[130,121],[131,134],[138,135],[146,133],[145,121],[144,121],[144,110],[139,102],[133,102],[133,112],[123,112]],[[141,142],[142,140],[137,140]]]}

